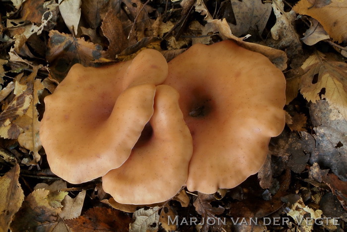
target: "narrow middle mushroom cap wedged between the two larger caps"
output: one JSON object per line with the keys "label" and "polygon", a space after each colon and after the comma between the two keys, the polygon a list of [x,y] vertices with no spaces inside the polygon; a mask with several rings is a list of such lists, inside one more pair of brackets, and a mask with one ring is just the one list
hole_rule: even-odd
{"label": "narrow middle mushroom cap wedged between the two larger caps", "polygon": [[153,204],[172,198],[188,175],[192,139],[178,105],[178,93],[157,86],[153,133],[118,169],[103,176],[103,189],[123,204]]}

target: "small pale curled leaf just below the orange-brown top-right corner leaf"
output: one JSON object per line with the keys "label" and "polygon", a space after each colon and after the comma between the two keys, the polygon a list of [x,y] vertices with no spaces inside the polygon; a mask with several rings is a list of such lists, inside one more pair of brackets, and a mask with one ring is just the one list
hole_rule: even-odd
{"label": "small pale curled leaf just below the orange-brown top-right corner leaf", "polygon": [[303,33],[304,37],[301,38],[302,42],[312,46],[319,41],[330,39],[323,26],[316,19],[310,18],[309,21],[311,26],[306,30],[305,33]]}

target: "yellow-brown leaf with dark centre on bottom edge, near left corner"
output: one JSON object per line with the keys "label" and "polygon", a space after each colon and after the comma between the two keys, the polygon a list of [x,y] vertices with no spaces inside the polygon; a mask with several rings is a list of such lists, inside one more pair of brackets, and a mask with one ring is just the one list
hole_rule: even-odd
{"label": "yellow-brown leaf with dark centre on bottom edge, near left corner", "polygon": [[60,209],[53,208],[47,197],[50,191],[38,189],[30,193],[15,214],[12,231],[50,231],[57,225]]}

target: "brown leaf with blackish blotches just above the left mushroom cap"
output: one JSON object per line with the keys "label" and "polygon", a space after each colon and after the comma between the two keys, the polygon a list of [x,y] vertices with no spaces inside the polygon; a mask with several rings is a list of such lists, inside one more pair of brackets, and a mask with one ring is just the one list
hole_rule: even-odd
{"label": "brown leaf with blackish blotches just above the left mushroom cap", "polygon": [[101,61],[105,52],[100,45],[85,42],[83,39],[55,30],[50,31],[47,59],[54,79],[59,82],[66,76],[70,67],[75,63],[93,66],[95,61]]}

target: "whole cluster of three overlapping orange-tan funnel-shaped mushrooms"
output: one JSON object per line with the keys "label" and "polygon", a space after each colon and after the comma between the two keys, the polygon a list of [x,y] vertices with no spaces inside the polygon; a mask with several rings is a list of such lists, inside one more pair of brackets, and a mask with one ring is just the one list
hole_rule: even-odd
{"label": "whole cluster of three overlapping orange-tan funnel-shaped mushrooms", "polygon": [[169,63],[146,49],[103,67],[75,64],[45,98],[40,138],[53,173],[102,176],[123,204],[214,193],[262,167],[285,124],[285,78],[234,42],[196,44]]}

